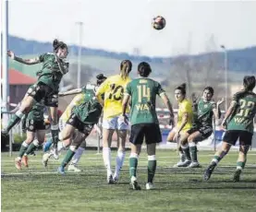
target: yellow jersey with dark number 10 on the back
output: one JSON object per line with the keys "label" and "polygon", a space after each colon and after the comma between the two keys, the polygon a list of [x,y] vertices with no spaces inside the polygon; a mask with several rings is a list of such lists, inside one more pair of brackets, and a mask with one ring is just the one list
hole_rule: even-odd
{"label": "yellow jersey with dark number 10 on the back", "polygon": [[122,113],[123,94],[130,80],[129,77],[123,79],[120,75],[107,77],[98,88],[96,95],[104,94],[104,119],[113,118]]}

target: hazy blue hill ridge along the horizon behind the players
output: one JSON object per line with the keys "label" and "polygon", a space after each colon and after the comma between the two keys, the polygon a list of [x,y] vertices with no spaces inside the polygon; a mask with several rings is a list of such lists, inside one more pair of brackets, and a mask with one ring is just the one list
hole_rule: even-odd
{"label": "hazy blue hill ridge along the horizon behind the players", "polygon": [[[15,36],[9,36],[9,49],[14,51],[17,55],[23,55],[31,57],[40,53],[51,52],[51,42],[39,42],[28,41]],[[70,63],[77,63],[78,46],[69,46]],[[227,52],[228,55],[228,69],[230,73],[237,73],[239,76],[246,73],[256,74],[256,46],[232,50]],[[218,70],[224,69],[224,53],[202,53],[199,55],[182,55],[179,56],[183,60],[193,61],[194,64],[204,65],[209,57],[214,56],[214,67]],[[82,48],[82,64],[90,66],[91,69],[104,71],[106,74],[112,74],[116,72],[120,61],[123,59],[129,59],[136,66],[140,61],[150,62],[152,65],[152,77],[174,77],[170,76],[170,67],[174,64],[177,57],[148,57],[148,56],[135,56],[128,53],[114,53],[107,52],[101,49]],[[207,62],[208,63],[208,62]],[[34,76],[35,71],[40,69],[40,65],[20,65],[17,62],[10,61],[10,66],[17,68],[19,71]],[[136,72],[133,72],[133,76],[136,76]],[[230,75],[234,77],[234,75]],[[235,77],[238,78],[238,77]],[[240,77],[239,77],[240,78]]]}

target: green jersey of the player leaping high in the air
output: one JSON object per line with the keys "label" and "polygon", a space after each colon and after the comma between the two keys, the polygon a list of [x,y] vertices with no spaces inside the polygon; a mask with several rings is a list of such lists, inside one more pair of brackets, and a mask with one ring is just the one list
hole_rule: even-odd
{"label": "green jersey of the player leaping high in the air", "polygon": [[44,53],[39,56],[43,63],[42,70],[39,72],[39,82],[58,90],[62,77],[68,72],[68,63],[65,60],[57,58],[55,53]]}

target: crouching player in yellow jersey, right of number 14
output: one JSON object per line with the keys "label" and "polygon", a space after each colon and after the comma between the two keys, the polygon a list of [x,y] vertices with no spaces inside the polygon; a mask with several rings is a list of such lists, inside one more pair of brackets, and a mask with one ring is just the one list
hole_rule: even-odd
{"label": "crouching player in yellow jersey, right of number 14", "polygon": [[177,142],[180,161],[175,167],[187,167],[191,162],[189,154],[188,135],[186,132],[192,127],[192,103],[186,99],[186,84],[175,89],[175,99],[178,102],[177,126],[169,133],[167,140]]}

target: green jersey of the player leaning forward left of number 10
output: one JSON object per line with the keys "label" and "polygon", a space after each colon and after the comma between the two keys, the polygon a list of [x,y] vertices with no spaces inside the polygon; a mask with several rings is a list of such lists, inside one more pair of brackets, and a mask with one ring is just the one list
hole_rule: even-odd
{"label": "green jersey of the player leaning forward left of number 10", "polygon": [[84,99],[80,105],[74,107],[72,112],[84,124],[97,124],[103,107],[95,97],[96,86],[89,84],[82,88],[82,91],[84,92]]}

